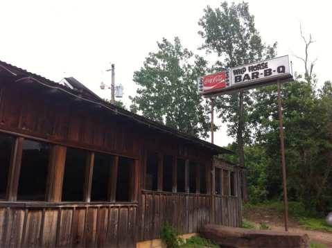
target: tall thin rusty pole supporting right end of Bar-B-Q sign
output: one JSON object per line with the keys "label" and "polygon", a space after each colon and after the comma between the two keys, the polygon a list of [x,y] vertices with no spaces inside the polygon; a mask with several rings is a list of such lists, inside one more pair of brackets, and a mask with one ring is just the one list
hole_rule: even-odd
{"label": "tall thin rusty pole supporting right end of Bar-B-Q sign", "polygon": [[281,169],[283,182],[283,207],[285,217],[285,231],[288,231],[288,200],[286,185],[286,162],[285,162],[285,146],[283,144],[283,114],[281,110],[281,82],[278,80],[278,112],[279,112],[279,134],[280,134],[280,151],[281,151]]}

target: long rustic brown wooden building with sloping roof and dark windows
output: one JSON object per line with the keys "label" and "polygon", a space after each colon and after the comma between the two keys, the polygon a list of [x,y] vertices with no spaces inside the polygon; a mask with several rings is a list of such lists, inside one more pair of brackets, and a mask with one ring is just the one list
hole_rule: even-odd
{"label": "long rustic brown wooden building with sloping roof and dark windows", "polygon": [[238,227],[238,167],[213,163],[225,152],[73,78],[0,62],[0,247],[135,247],[164,222]]}

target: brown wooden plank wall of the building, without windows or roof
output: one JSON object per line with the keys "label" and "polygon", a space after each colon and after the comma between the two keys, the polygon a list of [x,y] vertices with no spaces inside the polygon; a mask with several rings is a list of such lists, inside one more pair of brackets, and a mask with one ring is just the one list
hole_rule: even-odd
{"label": "brown wooden plank wall of the building, without windows or roof", "polygon": [[[216,200],[218,197],[213,194],[213,154],[209,150],[151,131],[116,112],[105,112],[97,105],[53,89],[3,79],[0,83],[0,133],[15,136],[6,199],[0,200],[0,247],[134,247],[138,240],[159,238],[159,228],[164,222],[183,233],[197,232],[209,222],[231,226],[241,222],[240,215],[231,213],[239,208],[236,196],[220,196],[221,200]],[[53,145],[45,201],[17,201],[24,139]],[[89,153],[81,202],[62,202],[61,198],[69,147]],[[186,161],[186,192],[177,193],[174,179],[172,192],[162,191],[160,183],[157,191],[144,189],[150,151]],[[96,152],[112,154],[115,161],[119,157],[133,159],[128,202],[117,202],[114,191],[110,191],[107,202],[91,202],[91,173]],[[206,194],[189,193],[189,161],[204,164]],[[162,170],[162,163],[158,168]],[[111,186],[116,181],[114,175]],[[219,218],[215,209],[223,211],[224,218]],[[228,215],[226,209],[229,209]],[[225,216],[233,221],[226,221]]]}

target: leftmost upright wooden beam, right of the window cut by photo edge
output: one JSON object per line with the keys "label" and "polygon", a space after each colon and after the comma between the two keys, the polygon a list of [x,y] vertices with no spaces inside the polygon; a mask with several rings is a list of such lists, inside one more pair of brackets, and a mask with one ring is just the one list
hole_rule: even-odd
{"label": "leftmost upright wooden beam, right of the window cut by photo edge", "polygon": [[22,143],[24,138],[18,137],[12,148],[10,157],[10,168],[8,173],[8,183],[6,199],[10,202],[17,200],[17,188],[19,187],[19,171],[21,170]]}

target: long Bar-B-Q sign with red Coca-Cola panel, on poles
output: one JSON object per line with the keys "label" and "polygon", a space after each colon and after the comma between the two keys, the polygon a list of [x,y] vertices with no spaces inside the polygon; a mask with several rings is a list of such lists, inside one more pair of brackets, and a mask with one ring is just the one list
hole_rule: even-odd
{"label": "long Bar-B-Q sign with red Coca-Cola panel, on poles", "polygon": [[[218,73],[204,76],[198,79],[199,87],[200,80],[202,81],[202,87],[199,88],[199,93],[203,95],[225,94],[238,89],[254,88],[257,85],[268,85],[278,79],[288,80],[292,78],[288,55],[275,57],[263,62],[245,64],[227,71],[221,71],[220,73],[227,75],[227,80],[229,80],[228,84],[225,83],[223,87],[221,87],[221,85],[220,87],[214,87],[213,82],[218,82],[218,80],[214,80],[212,76],[218,75]],[[204,87],[204,82],[206,82],[207,87]]]}

